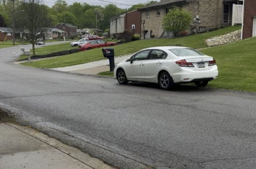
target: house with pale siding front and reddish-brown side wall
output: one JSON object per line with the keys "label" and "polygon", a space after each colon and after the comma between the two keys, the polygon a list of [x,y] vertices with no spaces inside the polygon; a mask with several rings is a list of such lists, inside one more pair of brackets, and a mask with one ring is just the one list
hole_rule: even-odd
{"label": "house with pale siding front and reddish-brown side wall", "polygon": [[134,32],[140,36],[141,33],[141,20],[140,12],[134,10],[131,12],[125,12],[122,14],[117,14],[109,19],[110,21],[110,37],[118,37],[118,34],[128,30],[129,32]]}

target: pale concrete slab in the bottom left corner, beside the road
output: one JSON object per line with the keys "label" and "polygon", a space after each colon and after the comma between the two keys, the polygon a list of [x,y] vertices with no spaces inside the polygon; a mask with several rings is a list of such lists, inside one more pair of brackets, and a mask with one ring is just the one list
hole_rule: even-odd
{"label": "pale concrete slab in the bottom left corner, beside the road", "polygon": [[113,169],[31,128],[0,123],[0,169]]}

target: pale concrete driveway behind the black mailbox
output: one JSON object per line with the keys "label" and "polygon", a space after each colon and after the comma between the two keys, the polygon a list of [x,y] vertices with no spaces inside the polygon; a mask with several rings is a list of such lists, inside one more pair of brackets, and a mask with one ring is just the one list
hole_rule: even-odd
{"label": "pale concrete driveway behind the black mailbox", "polygon": [[[123,56],[123,57],[116,57],[115,63],[118,64],[121,61],[124,61],[131,57],[131,54]],[[109,71],[109,60],[105,59],[102,61],[94,61],[90,63],[84,63],[75,66],[68,66],[64,68],[52,68],[52,70],[59,70],[62,72],[75,72],[75,73],[82,73],[82,74],[98,74],[99,72]]]}

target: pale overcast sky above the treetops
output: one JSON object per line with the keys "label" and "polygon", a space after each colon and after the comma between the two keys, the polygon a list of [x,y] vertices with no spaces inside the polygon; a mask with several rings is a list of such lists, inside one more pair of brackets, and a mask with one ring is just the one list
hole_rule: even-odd
{"label": "pale overcast sky above the treetops", "polygon": [[[94,6],[105,6],[107,4],[109,4],[109,2],[113,2],[113,4],[115,3],[122,3],[125,5],[121,5],[121,4],[115,4],[116,6],[118,6],[118,8],[129,8],[131,6],[126,6],[126,5],[135,5],[137,3],[147,3],[148,0],[65,0],[68,5],[71,5],[73,2],[80,2],[80,3],[89,3],[90,5],[94,5]],[[104,2],[104,1],[109,1],[109,2]],[[149,0],[151,1],[151,0]],[[155,1],[159,1],[159,0],[155,0]],[[53,6],[55,3],[55,0],[44,0],[44,4],[46,4],[47,6]]]}

